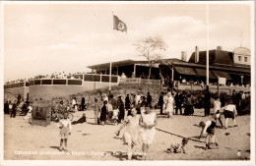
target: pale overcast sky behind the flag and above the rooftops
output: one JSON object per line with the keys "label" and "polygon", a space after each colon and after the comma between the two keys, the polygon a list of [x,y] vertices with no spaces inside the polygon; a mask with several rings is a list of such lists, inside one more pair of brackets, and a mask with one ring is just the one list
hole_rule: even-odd
{"label": "pale overcast sky behind the flag and above the rooftops", "polygon": [[[187,59],[198,45],[206,50],[205,4],[5,4],[4,81],[54,72],[90,72],[89,65],[142,60],[133,43],[160,34],[168,49],[164,58]],[[106,3],[106,2],[101,2]],[[253,4],[253,3],[252,3]],[[250,48],[248,4],[209,6],[210,49]],[[112,13],[127,33],[113,31]],[[110,51],[112,50],[112,51]]]}

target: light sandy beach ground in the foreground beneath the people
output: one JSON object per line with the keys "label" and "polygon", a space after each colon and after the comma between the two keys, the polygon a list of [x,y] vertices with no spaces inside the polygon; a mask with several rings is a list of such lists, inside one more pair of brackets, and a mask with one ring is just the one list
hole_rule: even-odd
{"label": "light sandy beach ground in the foreground beneath the people", "polygon": [[[159,114],[159,110],[154,110]],[[47,127],[31,126],[23,116],[4,117],[4,159],[5,160],[126,160],[127,146],[120,137],[114,138],[114,132],[120,125],[94,125],[94,111],[74,113],[74,120],[78,120],[83,113],[87,115],[87,122],[72,126],[72,134],[68,139],[68,152],[60,152],[59,129],[55,122]],[[237,128],[232,128],[230,120],[227,130],[217,128],[216,134],[220,148],[205,150],[204,138],[197,138],[201,129],[200,121],[207,121],[203,117],[204,110],[196,109],[194,116],[174,115],[173,119],[158,115],[157,130],[154,143],[149,149],[149,160],[248,160],[250,158],[250,116],[237,117]],[[224,117],[223,117],[224,122]],[[218,122],[218,126],[220,123]],[[186,147],[187,154],[167,153],[170,143],[189,140]],[[133,160],[139,160],[142,150],[140,140],[134,148]],[[136,155],[137,154],[137,155]]]}

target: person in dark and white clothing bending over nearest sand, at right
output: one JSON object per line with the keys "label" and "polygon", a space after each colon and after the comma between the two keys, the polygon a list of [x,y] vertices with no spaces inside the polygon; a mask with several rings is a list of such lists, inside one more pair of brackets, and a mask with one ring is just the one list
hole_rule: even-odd
{"label": "person in dark and white clothing bending over nearest sand, at right", "polygon": [[[214,118],[215,119],[215,118]],[[216,129],[216,122],[214,120],[209,120],[206,123],[200,122],[199,126],[202,128],[201,134],[199,136],[199,139],[202,137],[206,137],[206,149],[209,148],[209,134],[215,135],[215,129]]]}

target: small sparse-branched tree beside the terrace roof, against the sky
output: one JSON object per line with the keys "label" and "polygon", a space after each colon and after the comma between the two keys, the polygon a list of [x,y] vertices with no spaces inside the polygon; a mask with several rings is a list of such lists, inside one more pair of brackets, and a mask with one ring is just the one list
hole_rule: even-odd
{"label": "small sparse-branched tree beside the terrace roof, against the sky", "polygon": [[162,58],[163,52],[166,50],[167,45],[160,35],[143,37],[134,45],[139,53],[139,56],[143,56],[148,60],[150,67],[148,79],[150,79],[152,66],[156,61]]}

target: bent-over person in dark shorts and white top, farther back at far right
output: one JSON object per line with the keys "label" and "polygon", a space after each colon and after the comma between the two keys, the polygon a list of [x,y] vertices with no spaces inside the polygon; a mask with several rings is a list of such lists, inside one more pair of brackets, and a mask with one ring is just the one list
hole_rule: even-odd
{"label": "bent-over person in dark shorts and white top, farther back at far right", "polygon": [[224,129],[227,128],[228,118],[233,120],[234,127],[237,127],[235,117],[237,117],[237,110],[232,100],[224,107]]}

